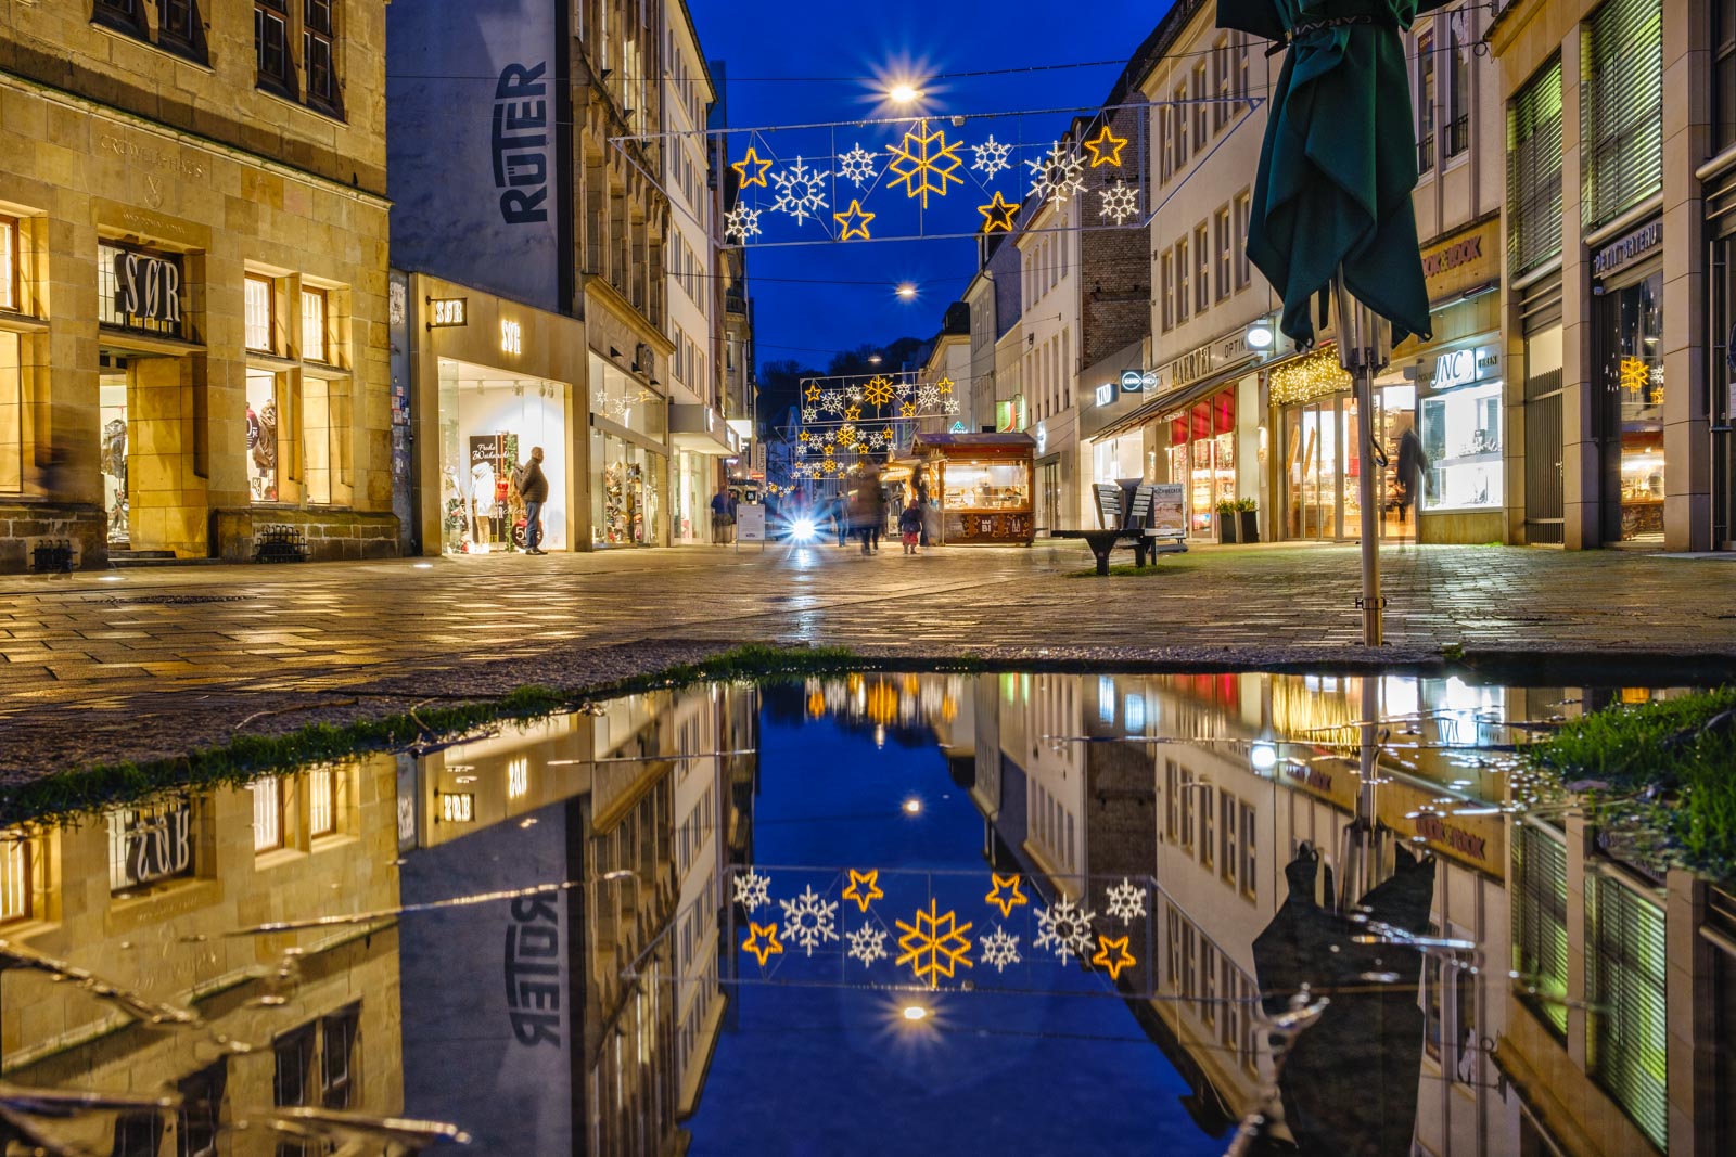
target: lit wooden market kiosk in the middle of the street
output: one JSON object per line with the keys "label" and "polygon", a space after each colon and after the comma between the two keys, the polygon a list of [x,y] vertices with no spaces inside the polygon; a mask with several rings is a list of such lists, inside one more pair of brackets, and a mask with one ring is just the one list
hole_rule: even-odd
{"label": "lit wooden market kiosk in the middle of the street", "polygon": [[[943,546],[1029,546],[1036,442],[1028,434],[918,434],[910,448]],[[929,536],[934,538],[930,526]]]}

